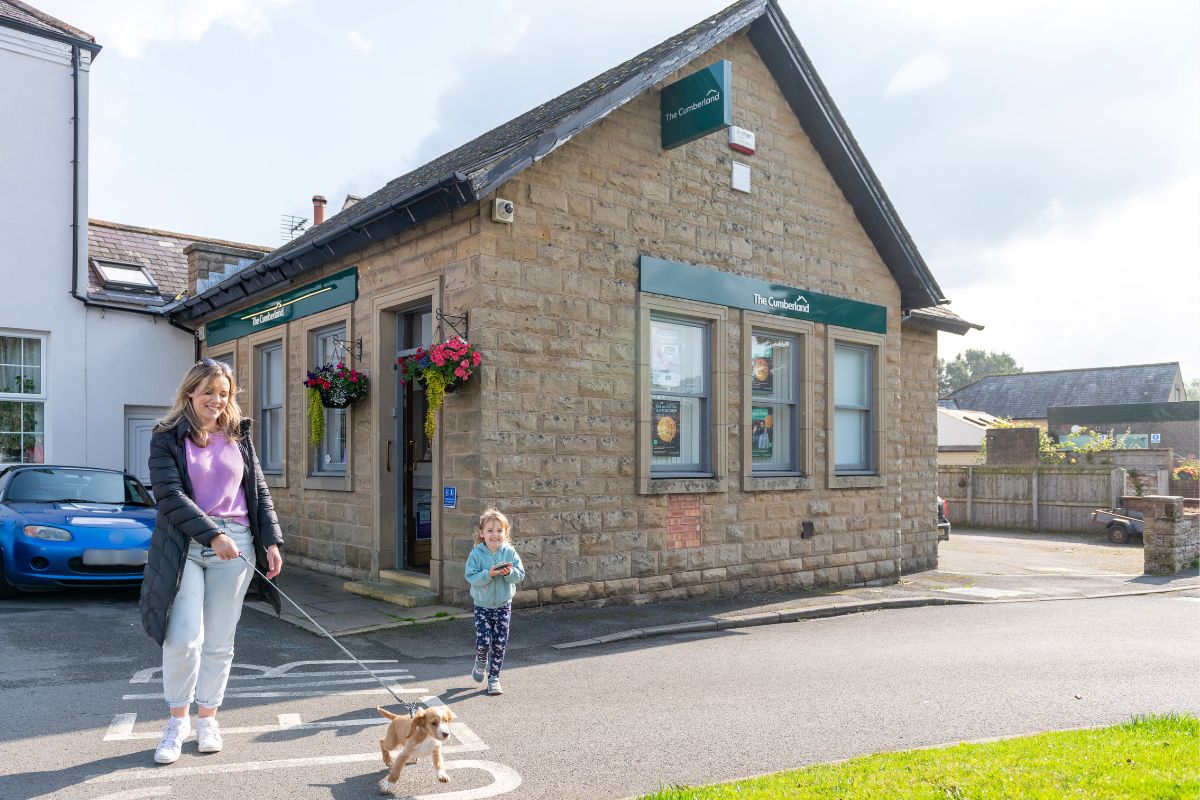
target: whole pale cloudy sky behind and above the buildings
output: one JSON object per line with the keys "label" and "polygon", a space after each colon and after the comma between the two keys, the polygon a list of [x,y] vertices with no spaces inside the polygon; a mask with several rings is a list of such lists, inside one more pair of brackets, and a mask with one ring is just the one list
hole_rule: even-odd
{"label": "whole pale cloudy sky behind and above the buildings", "polygon": [[[90,216],[278,246],[726,0],[34,0],[92,34]],[[960,317],[1200,378],[1200,4],[780,0]],[[737,98],[734,97],[734,103]]]}

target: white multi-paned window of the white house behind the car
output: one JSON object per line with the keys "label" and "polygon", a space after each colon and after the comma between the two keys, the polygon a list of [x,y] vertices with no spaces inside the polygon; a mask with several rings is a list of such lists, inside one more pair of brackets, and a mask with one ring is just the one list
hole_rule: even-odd
{"label": "white multi-paned window of the white house behind the car", "polygon": [[0,464],[46,463],[46,338],[0,335]]}

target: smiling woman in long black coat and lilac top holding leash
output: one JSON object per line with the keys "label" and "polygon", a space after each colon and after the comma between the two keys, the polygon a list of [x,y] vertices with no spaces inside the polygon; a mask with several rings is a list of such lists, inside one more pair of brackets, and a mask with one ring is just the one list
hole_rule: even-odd
{"label": "smiling woman in long black coat and lilac top holding leash", "polygon": [[229,681],[242,600],[253,582],[280,610],[269,581],[239,558],[253,553],[274,578],[283,569],[280,523],[241,416],[233,371],[204,359],[184,375],[150,439],[158,518],[142,583],[142,625],[162,645],[170,718],[154,758],[179,759],[197,703],[199,752],[221,750],[216,712]]}

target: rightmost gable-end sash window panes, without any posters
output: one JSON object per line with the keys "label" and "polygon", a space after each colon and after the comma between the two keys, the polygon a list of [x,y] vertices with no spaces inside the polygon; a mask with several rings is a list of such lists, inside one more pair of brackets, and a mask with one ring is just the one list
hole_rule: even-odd
{"label": "rightmost gable-end sash window panes, without any posters", "polygon": [[834,347],[834,471],[876,473],[876,384],[874,347],[838,342]]}

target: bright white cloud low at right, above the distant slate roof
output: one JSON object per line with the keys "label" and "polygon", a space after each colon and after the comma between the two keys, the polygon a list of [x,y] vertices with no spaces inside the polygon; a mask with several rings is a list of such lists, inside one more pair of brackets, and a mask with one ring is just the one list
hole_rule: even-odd
{"label": "bright white cloud low at right, above the distant slate roof", "polygon": [[960,317],[942,357],[1010,353],[1030,371],[1178,361],[1200,377],[1200,176],[1133,194],[1088,219],[1048,225],[976,253],[971,282],[946,287]]}

